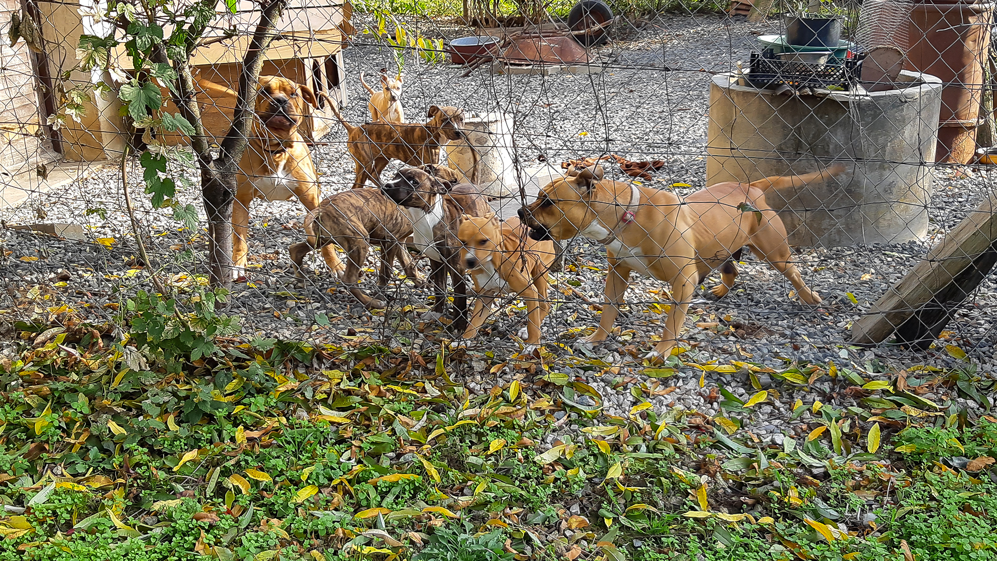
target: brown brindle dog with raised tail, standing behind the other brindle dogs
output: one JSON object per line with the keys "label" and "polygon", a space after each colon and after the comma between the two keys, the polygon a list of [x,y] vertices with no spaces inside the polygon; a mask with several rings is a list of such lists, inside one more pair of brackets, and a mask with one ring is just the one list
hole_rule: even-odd
{"label": "brown brindle dog with raised tail, standing behind the other brindle dogs", "polygon": [[[429,111],[429,122],[396,125],[393,123],[367,123],[356,127],[350,125],[339,113],[336,104],[332,111],[347,132],[347,149],[356,162],[357,177],[353,189],[364,187],[367,180],[381,186],[381,172],[392,160],[401,160],[409,166],[439,164],[443,145],[450,141],[468,141],[464,132],[464,111],[456,107],[433,106]],[[470,142],[469,142],[470,146]],[[470,178],[477,182],[478,151],[471,151],[474,171]]]}

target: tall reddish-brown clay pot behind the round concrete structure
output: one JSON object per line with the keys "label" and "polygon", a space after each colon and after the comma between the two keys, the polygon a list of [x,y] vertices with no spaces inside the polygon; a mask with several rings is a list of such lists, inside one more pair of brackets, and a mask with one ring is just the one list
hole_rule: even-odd
{"label": "tall reddish-brown clay pot behind the round concrete structure", "polygon": [[992,3],[914,0],[906,67],[936,76],[945,84],[935,153],[938,162],[968,164],[975,153],[993,17]]}

